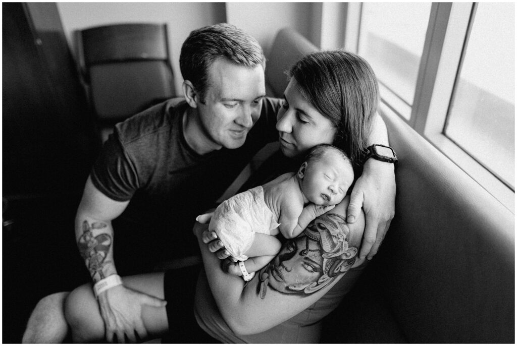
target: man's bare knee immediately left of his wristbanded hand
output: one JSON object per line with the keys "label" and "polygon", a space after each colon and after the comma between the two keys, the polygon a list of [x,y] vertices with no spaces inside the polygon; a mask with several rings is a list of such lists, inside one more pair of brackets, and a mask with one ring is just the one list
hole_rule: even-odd
{"label": "man's bare knee immediately left of his wristbanded hand", "polygon": [[92,285],[80,286],[67,296],[65,317],[74,342],[92,342],[104,337],[104,322]]}

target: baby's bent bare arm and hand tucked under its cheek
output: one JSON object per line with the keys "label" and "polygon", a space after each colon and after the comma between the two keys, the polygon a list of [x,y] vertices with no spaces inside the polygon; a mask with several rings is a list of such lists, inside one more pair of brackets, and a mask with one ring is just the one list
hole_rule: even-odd
{"label": "baby's bent bare arm and hand tucked under its cheek", "polygon": [[298,237],[298,235],[307,228],[309,223],[318,216],[321,216],[333,209],[334,205],[323,206],[309,203],[303,207],[300,214],[294,213],[292,208],[284,208],[280,215],[280,232],[286,239]]}

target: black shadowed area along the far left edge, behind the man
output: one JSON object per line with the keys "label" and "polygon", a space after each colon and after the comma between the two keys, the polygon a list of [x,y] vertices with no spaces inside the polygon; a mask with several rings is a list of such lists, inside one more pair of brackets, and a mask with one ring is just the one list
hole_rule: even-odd
{"label": "black shadowed area along the far left edge, behind the man", "polygon": [[89,280],[74,215],[100,140],[56,5],[2,11],[2,342],[19,343],[40,298]]}

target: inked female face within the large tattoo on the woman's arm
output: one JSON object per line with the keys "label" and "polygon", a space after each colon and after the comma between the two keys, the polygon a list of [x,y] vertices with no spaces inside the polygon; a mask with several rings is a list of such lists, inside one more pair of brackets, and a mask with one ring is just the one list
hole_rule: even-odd
{"label": "inked female face within the large tattoo on the woman's arm", "polygon": [[[297,293],[290,285],[307,285],[323,275],[320,245],[307,236],[288,240],[267,270],[269,286],[283,293]],[[309,246],[307,253],[301,253]],[[303,255],[302,255],[303,254]]]}

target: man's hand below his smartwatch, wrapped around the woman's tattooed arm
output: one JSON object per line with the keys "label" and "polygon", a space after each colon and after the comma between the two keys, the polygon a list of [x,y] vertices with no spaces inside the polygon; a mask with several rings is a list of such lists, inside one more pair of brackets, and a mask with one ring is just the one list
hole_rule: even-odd
{"label": "man's hand below his smartwatch, wrapped around the woman's tattooed arm", "polygon": [[359,258],[372,259],[395,215],[395,173],[392,163],[369,159],[352,190],[346,222],[353,224],[361,211],[366,215]]}

